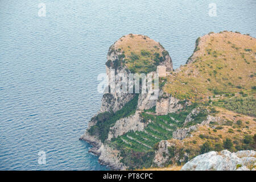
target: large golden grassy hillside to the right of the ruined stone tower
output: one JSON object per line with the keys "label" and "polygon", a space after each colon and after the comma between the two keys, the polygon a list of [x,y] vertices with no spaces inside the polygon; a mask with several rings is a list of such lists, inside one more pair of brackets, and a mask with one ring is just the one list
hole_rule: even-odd
{"label": "large golden grassy hillside to the right of the ruined stone tower", "polygon": [[207,100],[209,96],[243,92],[255,96],[256,39],[234,32],[197,39],[192,63],[167,79],[164,91],[176,98]]}

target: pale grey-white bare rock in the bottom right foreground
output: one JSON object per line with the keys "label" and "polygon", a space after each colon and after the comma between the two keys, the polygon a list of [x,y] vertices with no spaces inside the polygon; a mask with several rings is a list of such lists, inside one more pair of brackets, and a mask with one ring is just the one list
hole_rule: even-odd
{"label": "pale grey-white bare rock in the bottom right foreground", "polygon": [[187,162],[182,171],[234,171],[250,170],[254,168],[256,161],[255,151],[221,152],[211,151],[206,154],[196,156]]}

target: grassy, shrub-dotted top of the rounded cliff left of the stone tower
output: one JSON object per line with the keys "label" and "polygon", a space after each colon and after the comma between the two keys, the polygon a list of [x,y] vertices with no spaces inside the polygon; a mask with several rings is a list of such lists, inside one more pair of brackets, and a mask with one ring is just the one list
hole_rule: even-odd
{"label": "grassy, shrub-dotted top of the rounded cliff left of the stone tower", "polygon": [[164,61],[167,51],[148,38],[148,36],[129,34],[115,42],[114,49],[122,52],[121,58],[132,73],[148,73],[156,71],[156,66]]}

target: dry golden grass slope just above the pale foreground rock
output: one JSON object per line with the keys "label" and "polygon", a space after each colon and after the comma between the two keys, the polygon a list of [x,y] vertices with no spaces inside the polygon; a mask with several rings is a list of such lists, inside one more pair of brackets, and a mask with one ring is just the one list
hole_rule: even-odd
{"label": "dry golden grass slope just above the pale foreground rock", "polygon": [[[216,143],[222,144],[226,138],[229,138],[233,142],[236,141],[234,142],[235,147],[243,143],[245,135],[256,134],[255,118],[223,108],[217,108],[217,111],[219,113],[216,117],[220,117],[222,121],[212,123],[210,127],[200,126],[196,131],[192,131],[191,137],[183,139],[179,145],[189,148],[191,151],[200,151],[200,146],[205,142],[210,142],[214,147]],[[174,142],[174,140],[170,141]]]}

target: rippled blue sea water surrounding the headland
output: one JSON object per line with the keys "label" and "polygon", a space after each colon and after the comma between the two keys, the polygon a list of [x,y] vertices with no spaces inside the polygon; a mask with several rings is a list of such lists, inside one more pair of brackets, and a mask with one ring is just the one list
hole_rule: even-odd
{"label": "rippled blue sea water surrounding the headland", "polygon": [[[46,17],[38,16],[39,3]],[[217,16],[209,16],[209,3]],[[109,47],[144,34],[178,68],[210,31],[255,37],[255,8],[255,0],[1,0],[0,170],[108,169],[79,137],[100,108],[97,75]]]}

